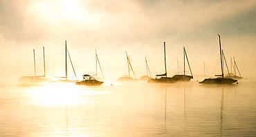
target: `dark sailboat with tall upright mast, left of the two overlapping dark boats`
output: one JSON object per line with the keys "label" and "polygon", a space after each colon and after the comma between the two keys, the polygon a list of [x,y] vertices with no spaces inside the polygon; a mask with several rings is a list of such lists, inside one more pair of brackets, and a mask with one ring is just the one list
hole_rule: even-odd
{"label": "dark sailboat with tall upright mast, left of the two overlapping dark boats", "polygon": [[[165,54],[165,42],[163,42],[163,49]],[[166,58],[165,58],[165,74],[156,74],[156,76],[161,76],[160,78],[150,78],[147,83],[176,83],[179,81],[179,78],[171,78],[167,77],[167,70],[166,70]]]}

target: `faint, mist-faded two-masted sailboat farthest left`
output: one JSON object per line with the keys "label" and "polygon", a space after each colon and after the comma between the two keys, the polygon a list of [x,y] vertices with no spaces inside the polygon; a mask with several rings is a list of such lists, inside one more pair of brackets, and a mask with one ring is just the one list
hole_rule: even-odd
{"label": "faint, mist-faded two-masted sailboat farthest left", "polygon": [[[43,47],[44,51],[44,47]],[[51,81],[51,79],[46,78],[46,65],[45,65],[45,56],[44,56],[44,75],[43,76],[37,76],[36,71],[36,65],[35,65],[35,49],[33,49],[34,54],[34,70],[35,70],[35,76],[21,76],[21,78],[18,79],[18,81],[28,81],[30,83],[46,83],[48,81]]]}

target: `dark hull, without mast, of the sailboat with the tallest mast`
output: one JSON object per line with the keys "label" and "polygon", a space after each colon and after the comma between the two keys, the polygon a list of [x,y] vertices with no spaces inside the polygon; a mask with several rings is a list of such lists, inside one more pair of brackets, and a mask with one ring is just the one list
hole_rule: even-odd
{"label": "dark hull, without mast, of the sailboat with the tallest mast", "polygon": [[202,84],[232,84],[237,82],[237,80],[232,78],[205,78],[205,80],[199,82]]}

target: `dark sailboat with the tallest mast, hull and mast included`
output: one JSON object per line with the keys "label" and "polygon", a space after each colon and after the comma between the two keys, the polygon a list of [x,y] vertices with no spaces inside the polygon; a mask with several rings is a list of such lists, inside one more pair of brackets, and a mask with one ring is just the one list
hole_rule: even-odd
{"label": "dark sailboat with the tallest mast, hull and mast included", "polygon": [[221,56],[221,75],[215,75],[218,76],[217,78],[205,78],[203,81],[199,83],[203,84],[232,84],[237,82],[237,80],[232,78],[225,78],[223,74],[223,50],[221,50],[221,36],[219,36],[219,50],[220,50],[220,56]]}

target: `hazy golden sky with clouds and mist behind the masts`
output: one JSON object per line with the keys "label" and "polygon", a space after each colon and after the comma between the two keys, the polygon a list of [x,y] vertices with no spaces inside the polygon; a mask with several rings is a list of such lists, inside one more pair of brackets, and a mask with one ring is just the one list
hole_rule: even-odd
{"label": "hazy golden sky with clouds and mist behind the masts", "polygon": [[[95,48],[106,81],[128,74],[125,51],[140,78],[164,73],[163,42],[167,46],[167,75],[183,68],[183,47],[194,75],[219,74],[219,37],[228,67],[235,56],[241,75],[256,81],[256,1],[251,0],[24,0],[0,1],[1,83],[37,74],[64,76],[64,46],[78,78],[95,74]],[[187,65],[186,63],[185,65]],[[188,67],[186,68],[188,70]],[[73,78],[68,64],[68,75]]]}

